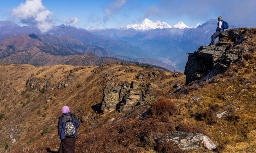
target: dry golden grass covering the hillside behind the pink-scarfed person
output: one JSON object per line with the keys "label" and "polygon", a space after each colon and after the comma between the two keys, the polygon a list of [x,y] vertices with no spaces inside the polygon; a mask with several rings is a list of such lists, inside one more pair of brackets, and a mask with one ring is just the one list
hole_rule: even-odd
{"label": "dry golden grass covering the hillside behind the pink-scarfed person", "polygon": [[[122,67],[132,68],[137,72],[124,72],[125,68]],[[102,122],[102,124],[97,126],[104,125],[108,122],[107,120],[113,118],[111,117],[111,113],[107,116],[95,114],[91,108],[92,105],[101,102],[103,96],[102,89],[106,86],[107,81],[156,81],[159,85],[165,85],[167,79],[176,79],[172,77],[172,72],[160,70],[161,74],[159,78],[153,80],[137,80],[136,75],[140,70],[143,72],[152,72],[156,71],[156,69],[143,69],[137,66],[121,66],[119,64],[106,64],[102,67],[82,66],[82,69],[70,74],[70,70],[76,68],[80,68],[80,66],[56,65],[40,67],[22,64],[0,65],[0,103],[3,106],[0,107],[0,112],[8,116],[6,120],[3,119],[0,122],[0,127],[2,128],[0,131],[1,146],[4,142],[8,142],[11,145],[11,151],[18,152],[45,152],[48,147],[53,151],[58,150],[60,141],[58,140],[56,126],[63,105],[70,106],[71,111],[78,118],[83,118],[84,123],[81,124],[78,130],[78,134],[81,135],[90,124],[97,123],[97,120],[92,119],[94,118],[93,116],[97,116],[97,119],[103,118],[104,120],[104,123]],[[118,71],[119,69],[122,70]],[[106,78],[105,74],[107,72],[110,72],[110,76]],[[62,87],[61,89],[40,93],[39,91],[29,90],[25,87],[27,79],[31,76],[49,79],[51,84],[56,87],[60,81],[67,81],[69,76],[72,83],[67,88]],[[184,80],[185,76],[181,75],[179,78],[183,78]],[[160,92],[165,89],[156,90]],[[22,95],[22,92],[25,93]],[[31,96],[27,98],[28,94]],[[46,103],[45,96],[52,97],[54,103],[53,100]],[[29,103],[27,103],[28,99],[30,99]],[[49,108],[45,109],[46,107]],[[40,114],[38,114],[38,111],[40,111]],[[43,114],[46,116],[42,117]],[[25,127],[21,128],[21,125]],[[42,136],[41,132],[44,126],[47,126],[51,131]],[[18,138],[18,140],[13,144],[9,135],[2,133],[2,131],[10,133],[10,127],[13,127],[15,130],[22,129],[21,132],[14,132],[14,138]],[[21,151],[20,148],[24,148],[24,150]],[[0,147],[0,151],[3,149],[4,147]]]}

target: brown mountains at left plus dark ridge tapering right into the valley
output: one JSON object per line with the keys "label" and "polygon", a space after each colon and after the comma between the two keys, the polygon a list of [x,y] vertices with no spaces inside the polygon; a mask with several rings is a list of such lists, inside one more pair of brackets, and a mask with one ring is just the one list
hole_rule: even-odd
{"label": "brown mountains at left plus dark ridge tapering right into the valley", "polygon": [[[91,56],[82,55],[93,53]],[[98,57],[97,57],[98,56]],[[106,63],[100,57],[111,57],[125,61],[150,63],[171,71],[179,71],[160,61],[153,59],[141,60],[120,57],[110,50],[91,46],[74,39],[71,36],[51,36],[29,34],[13,36],[0,41],[0,62],[28,63],[32,65],[50,66],[54,64],[100,65]]]}

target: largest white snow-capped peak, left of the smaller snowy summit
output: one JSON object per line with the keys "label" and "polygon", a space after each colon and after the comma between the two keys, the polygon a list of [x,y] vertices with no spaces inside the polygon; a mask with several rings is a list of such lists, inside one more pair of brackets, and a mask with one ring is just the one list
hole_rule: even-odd
{"label": "largest white snow-capped peak, left of the smaller snowy summit", "polygon": [[150,30],[150,29],[163,29],[163,28],[172,28],[169,24],[165,22],[153,22],[149,19],[144,19],[141,24],[130,24],[127,26],[122,26],[121,29],[135,29],[135,30]]}

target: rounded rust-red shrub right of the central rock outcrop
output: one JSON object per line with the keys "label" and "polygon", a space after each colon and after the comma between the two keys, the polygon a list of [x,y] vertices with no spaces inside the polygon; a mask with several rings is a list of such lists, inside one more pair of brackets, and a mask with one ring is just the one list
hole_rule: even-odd
{"label": "rounded rust-red shrub right of the central rock outcrop", "polygon": [[176,106],[174,101],[170,101],[168,98],[159,98],[154,101],[150,114],[152,116],[160,116],[165,113],[169,113],[169,115],[173,115],[176,111],[178,111],[178,107]]}

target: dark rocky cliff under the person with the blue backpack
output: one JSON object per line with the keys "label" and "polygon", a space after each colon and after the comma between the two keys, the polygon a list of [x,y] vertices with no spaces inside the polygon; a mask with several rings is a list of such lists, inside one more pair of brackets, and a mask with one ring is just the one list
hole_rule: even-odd
{"label": "dark rocky cliff under the person with the blue backpack", "polygon": [[189,53],[184,72],[186,84],[209,79],[225,72],[230,64],[247,58],[244,55],[255,50],[253,42],[248,44],[255,32],[256,28],[230,29],[219,36],[216,46],[200,46],[194,53]]}

